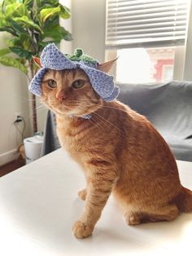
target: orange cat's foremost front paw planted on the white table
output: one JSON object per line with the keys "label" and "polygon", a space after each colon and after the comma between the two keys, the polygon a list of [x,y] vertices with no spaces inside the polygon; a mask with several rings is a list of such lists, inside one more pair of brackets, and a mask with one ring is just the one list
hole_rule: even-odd
{"label": "orange cat's foremost front paw planted on the white table", "polygon": [[87,223],[76,221],[76,223],[72,227],[72,234],[76,236],[76,238],[85,238],[87,236],[90,236],[93,230],[94,228],[89,227]]}

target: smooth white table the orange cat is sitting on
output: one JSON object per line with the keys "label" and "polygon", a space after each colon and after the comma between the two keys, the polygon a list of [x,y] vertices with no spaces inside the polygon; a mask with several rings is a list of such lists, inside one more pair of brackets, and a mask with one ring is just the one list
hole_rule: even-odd
{"label": "smooth white table the orange cat is sitting on", "polygon": [[[192,163],[178,161],[181,182],[192,189]],[[77,240],[72,224],[84,202],[80,168],[59,149],[0,179],[0,255],[191,255],[192,214],[171,223],[129,227],[113,198],[93,236]],[[186,253],[187,252],[187,253]]]}

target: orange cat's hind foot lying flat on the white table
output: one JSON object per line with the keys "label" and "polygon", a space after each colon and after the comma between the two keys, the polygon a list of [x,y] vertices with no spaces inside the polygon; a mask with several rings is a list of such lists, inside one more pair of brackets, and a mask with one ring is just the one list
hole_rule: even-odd
{"label": "orange cat's hind foot lying flat on the white table", "polygon": [[137,225],[140,223],[154,223],[160,221],[172,221],[179,215],[176,205],[166,205],[159,209],[145,210],[138,212],[126,212],[124,214],[125,223]]}

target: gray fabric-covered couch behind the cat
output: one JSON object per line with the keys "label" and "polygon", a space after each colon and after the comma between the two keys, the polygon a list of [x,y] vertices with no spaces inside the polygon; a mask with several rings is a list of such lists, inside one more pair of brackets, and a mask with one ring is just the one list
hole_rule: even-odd
{"label": "gray fabric-covered couch behind the cat", "polygon": [[[192,82],[117,84],[118,99],[146,116],[178,160],[192,161]],[[42,155],[59,148],[55,117],[48,113]]]}

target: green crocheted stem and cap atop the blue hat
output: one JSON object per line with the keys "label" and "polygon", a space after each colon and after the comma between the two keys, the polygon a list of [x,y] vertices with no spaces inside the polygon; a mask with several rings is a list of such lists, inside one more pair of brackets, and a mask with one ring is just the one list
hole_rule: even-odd
{"label": "green crocheted stem and cap atop the blue hat", "polygon": [[83,50],[80,48],[77,48],[74,51],[74,55],[65,55],[69,60],[72,61],[83,61],[85,64],[97,64],[98,61],[94,60],[94,58],[90,57],[89,55],[85,55]]}

